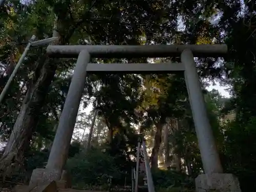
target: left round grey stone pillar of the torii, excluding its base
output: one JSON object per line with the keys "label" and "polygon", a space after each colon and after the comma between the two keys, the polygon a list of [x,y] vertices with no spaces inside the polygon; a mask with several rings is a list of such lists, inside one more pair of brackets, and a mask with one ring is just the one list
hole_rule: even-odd
{"label": "left round grey stone pillar of the torii, excluding its base", "polygon": [[62,170],[66,164],[89,61],[90,54],[86,50],[81,51],[76,61],[46,168]]}

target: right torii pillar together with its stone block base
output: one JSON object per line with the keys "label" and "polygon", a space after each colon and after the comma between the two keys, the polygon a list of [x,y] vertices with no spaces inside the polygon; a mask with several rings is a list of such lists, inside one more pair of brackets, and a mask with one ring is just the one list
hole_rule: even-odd
{"label": "right torii pillar together with its stone block base", "polygon": [[223,192],[241,192],[238,178],[232,174],[223,174],[191,50],[187,49],[182,52],[181,61],[184,63],[186,87],[205,172],[196,178],[196,191],[205,192],[214,189]]}

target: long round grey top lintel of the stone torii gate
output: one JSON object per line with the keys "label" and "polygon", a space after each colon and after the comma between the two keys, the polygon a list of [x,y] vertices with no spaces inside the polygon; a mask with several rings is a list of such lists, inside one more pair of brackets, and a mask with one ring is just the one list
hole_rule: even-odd
{"label": "long round grey top lintel of the stone torii gate", "polygon": [[91,57],[96,58],[139,58],[139,57],[172,57],[180,56],[182,51],[190,49],[195,57],[222,57],[227,53],[225,44],[214,45],[145,45],[145,46],[118,46],[118,45],[71,45],[54,46],[47,48],[50,57],[77,57],[82,50],[87,50]]}

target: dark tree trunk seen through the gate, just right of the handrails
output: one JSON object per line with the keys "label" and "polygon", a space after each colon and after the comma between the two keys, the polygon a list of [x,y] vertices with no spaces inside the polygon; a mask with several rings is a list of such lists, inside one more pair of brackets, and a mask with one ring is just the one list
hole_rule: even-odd
{"label": "dark tree trunk seen through the gate, just right of the handrails", "polygon": [[155,134],[155,140],[154,140],[154,147],[151,153],[151,168],[157,169],[158,167],[158,153],[160,144],[162,141],[162,129],[163,125],[161,123],[156,124],[156,134]]}

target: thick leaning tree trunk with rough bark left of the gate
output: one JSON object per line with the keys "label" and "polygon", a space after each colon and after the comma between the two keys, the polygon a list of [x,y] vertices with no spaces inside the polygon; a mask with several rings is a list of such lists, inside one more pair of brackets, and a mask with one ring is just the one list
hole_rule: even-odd
{"label": "thick leaning tree trunk with rough bark left of the gate", "polygon": [[[55,29],[53,30],[53,36],[59,37],[57,45],[66,45],[75,28],[68,31],[68,35],[65,36],[65,39],[59,36],[56,30],[59,28],[63,29],[63,27],[61,27],[61,20],[58,19]],[[35,130],[41,113],[41,108],[44,106],[48,89],[57,69],[56,61],[56,59],[46,57],[43,63],[38,63],[33,82],[31,82],[29,86],[5,152],[0,159],[0,170],[5,170],[13,163],[15,163],[16,166],[23,165],[24,154],[29,148],[33,131]]]}

